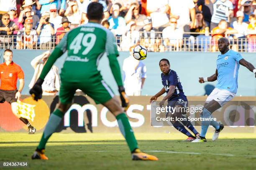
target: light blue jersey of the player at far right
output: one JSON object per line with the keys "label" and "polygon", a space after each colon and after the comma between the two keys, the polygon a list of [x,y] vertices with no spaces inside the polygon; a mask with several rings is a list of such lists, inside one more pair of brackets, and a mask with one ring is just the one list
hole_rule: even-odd
{"label": "light blue jersey of the player at far right", "polygon": [[236,93],[238,87],[238,70],[239,60],[243,57],[240,53],[233,50],[228,50],[223,55],[218,55],[217,70],[218,70],[218,83],[216,87],[220,90],[228,90]]}

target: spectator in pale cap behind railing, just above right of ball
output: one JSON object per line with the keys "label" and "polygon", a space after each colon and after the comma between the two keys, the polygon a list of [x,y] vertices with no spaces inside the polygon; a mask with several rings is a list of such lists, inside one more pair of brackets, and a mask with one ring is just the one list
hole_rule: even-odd
{"label": "spectator in pale cap behind railing, just above right of ball", "polygon": [[148,44],[148,51],[157,51],[158,48],[156,45],[156,39],[160,38],[161,39],[161,34],[156,33],[159,32],[158,29],[156,28],[152,28],[152,22],[151,22],[151,18],[148,17],[144,20],[144,26],[143,28],[141,28],[139,31],[142,32],[142,42],[145,43],[144,46],[146,46],[146,44]]}

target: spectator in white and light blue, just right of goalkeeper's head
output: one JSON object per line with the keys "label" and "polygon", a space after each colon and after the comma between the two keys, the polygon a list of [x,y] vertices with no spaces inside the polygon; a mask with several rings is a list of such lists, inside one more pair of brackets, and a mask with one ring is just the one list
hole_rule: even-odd
{"label": "spectator in white and light blue, just right of goalkeeper's head", "polygon": [[109,29],[113,32],[114,35],[121,36],[125,33],[125,20],[123,17],[119,16],[119,6],[113,5],[113,14],[108,19]]}

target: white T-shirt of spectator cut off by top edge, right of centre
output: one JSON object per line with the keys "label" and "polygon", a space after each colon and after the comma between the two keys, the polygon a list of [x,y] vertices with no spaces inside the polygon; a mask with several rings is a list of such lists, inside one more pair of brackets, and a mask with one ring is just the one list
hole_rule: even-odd
{"label": "white T-shirt of spectator cut off by top edge, right of centre", "polygon": [[190,23],[190,9],[195,7],[193,0],[169,0],[172,15],[179,15],[177,26],[182,28]]}

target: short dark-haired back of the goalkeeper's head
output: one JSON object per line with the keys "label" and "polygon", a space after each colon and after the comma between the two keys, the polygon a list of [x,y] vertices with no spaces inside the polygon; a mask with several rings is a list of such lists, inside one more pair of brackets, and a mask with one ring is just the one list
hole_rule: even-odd
{"label": "short dark-haired back of the goalkeeper's head", "polygon": [[101,20],[103,12],[103,5],[98,2],[92,2],[87,8],[87,18],[89,20]]}

